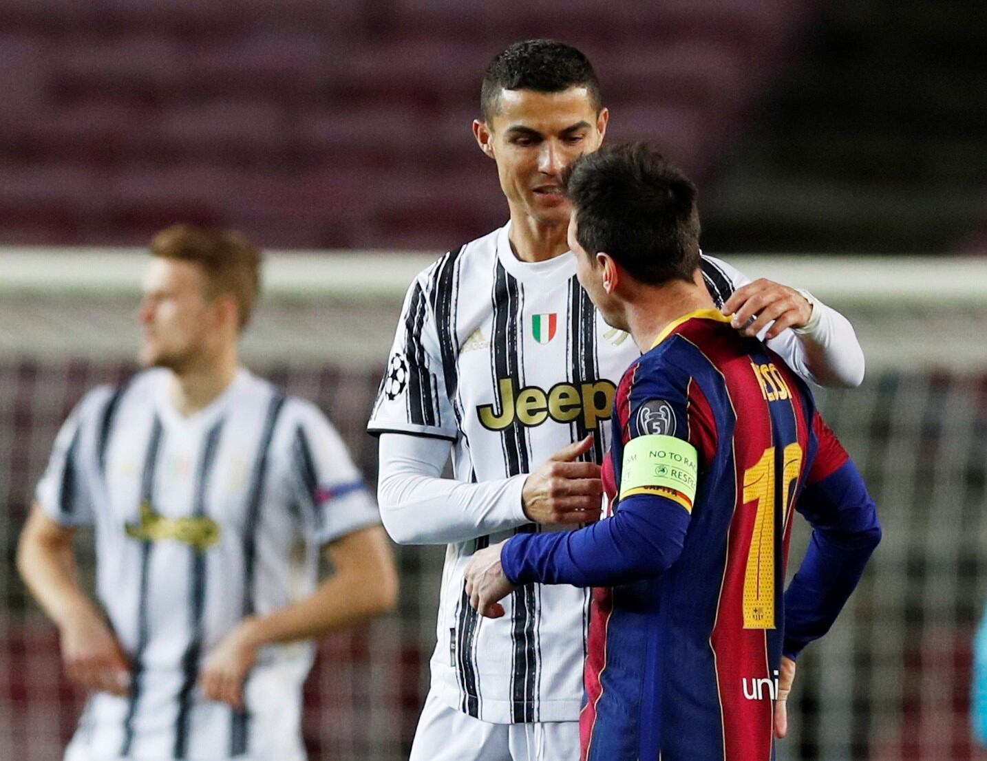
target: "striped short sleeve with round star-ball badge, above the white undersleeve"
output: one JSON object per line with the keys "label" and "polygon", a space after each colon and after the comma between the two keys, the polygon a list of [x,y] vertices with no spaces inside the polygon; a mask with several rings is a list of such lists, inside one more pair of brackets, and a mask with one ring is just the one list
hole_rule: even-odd
{"label": "striped short sleeve with round star-ball badge, above the white undersleeve", "polygon": [[[438,330],[429,302],[427,271],[408,290],[367,430],[413,433],[455,441],[455,413],[446,390]],[[451,332],[454,335],[454,332]],[[447,351],[446,361],[455,361]],[[451,368],[449,368],[451,369]]]}

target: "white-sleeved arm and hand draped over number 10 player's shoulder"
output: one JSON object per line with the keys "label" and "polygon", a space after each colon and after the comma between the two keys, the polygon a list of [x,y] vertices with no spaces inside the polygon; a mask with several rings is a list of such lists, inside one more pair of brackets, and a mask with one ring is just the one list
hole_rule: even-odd
{"label": "white-sleeved arm and hand draped over number 10 player's shoulder", "polygon": [[861,385],[864,350],[846,317],[814,297],[810,304],[796,288],[763,277],[752,282],[727,263],[707,259],[734,288],[723,313],[734,316],[735,328],[745,336],[760,336],[813,383],[834,388]]}

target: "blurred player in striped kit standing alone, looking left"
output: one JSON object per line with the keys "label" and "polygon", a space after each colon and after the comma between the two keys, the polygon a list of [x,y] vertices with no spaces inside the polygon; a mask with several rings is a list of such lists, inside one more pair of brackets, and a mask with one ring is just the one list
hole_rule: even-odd
{"label": "blurred player in striped kit standing alone, looking left", "polygon": [[[239,364],[257,250],[177,225],[151,254],[148,369],[65,422],[18,554],[92,690],[66,759],[302,759],[305,641],[394,604],[386,538],[330,422]],[[76,580],[83,525],[98,603]],[[317,586],[322,548],[336,573]]]}

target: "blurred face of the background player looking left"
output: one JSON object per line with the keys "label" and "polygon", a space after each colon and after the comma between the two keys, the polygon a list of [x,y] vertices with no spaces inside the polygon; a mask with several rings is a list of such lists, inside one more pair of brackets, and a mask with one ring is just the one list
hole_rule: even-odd
{"label": "blurred face of the background player looking left", "polygon": [[143,367],[181,372],[205,352],[214,319],[205,290],[200,266],[157,257],[151,260],[138,311],[144,329],[138,353]]}

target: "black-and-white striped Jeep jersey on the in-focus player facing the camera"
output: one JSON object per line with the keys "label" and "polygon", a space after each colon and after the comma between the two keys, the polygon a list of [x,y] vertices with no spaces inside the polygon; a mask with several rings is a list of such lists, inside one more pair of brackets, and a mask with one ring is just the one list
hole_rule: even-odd
{"label": "black-and-white striped Jeep jersey on the in-focus player facing the camera", "polygon": [[[523,263],[508,232],[449,252],[412,283],[368,430],[448,439],[455,479],[517,485],[513,514],[493,535],[447,548],[432,689],[488,722],[574,722],[588,593],[529,584],[505,601],[503,618],[482,619],[464,596],[463,572],[478,548],[544,530],[526,522],[520,474],[587,432],[595,436],[590,457],[602,462],[616,381],[641,352],[597,314],[570,252]],[[749,281],[712,258],[703,270],[718,304]],[[807,374],[791,331],[772,346]]]}

